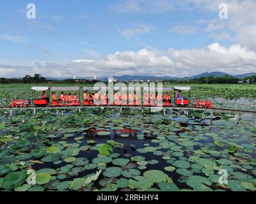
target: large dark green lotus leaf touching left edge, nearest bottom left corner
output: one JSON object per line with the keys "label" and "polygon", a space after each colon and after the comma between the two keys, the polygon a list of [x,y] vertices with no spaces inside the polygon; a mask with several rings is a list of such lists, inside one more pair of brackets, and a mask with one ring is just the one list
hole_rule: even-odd
{"label": "large dark green lotus leaf touching left edge, nearest bottom left corner", "polygon": [[26,177],[26,171],[10,172],[4,177],[1,187],[4,189],[15,189],[24,183]]}

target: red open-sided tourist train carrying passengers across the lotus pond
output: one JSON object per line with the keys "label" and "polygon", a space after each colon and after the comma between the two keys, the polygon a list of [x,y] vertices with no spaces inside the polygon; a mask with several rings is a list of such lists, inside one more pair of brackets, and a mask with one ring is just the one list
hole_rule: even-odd
{"label": "red open-sided tourist train carrying passengers across the lotus pond", "polygon": [[[31,87],[33,104],[35,106],[81,106],[80,103],[80,87]],[[141,99],[136,94],[133,87],[128,91],[123,91],[122,87],[115,87],[113,90],[113,99],[110,101],[108,97],[108,87],[83,87],[83,105],[82,106],[189,106],[191,87],[178,86],[163,87],[159,89],[150,88],[141,94]],[[100,92],[102,91],[102,92]],[[136,90],[137,91],[137,90]],[[40,92],[38,96],[36,92]],[[139,88],[141,92],[141,88]],[[188,92],[187,98],[182,98],[183,92]],[[182,93],[182,94],[181,94]],[[51,94],[51,96],[50,96]],[[58,94],[58,96],[57,96]],[[182,96],[181,96],[182,95]],[[172,98],[174,103],[172,104]],[[140,103],[141,101],[141,103]],[[29,107],[30,99],[16,100],[12,99],[12,107]],[[196,108],[212,108],[211,100],[193,100],[193,106]]]}

